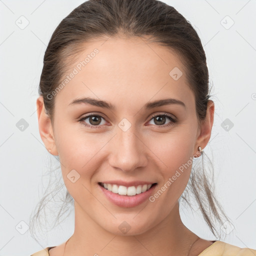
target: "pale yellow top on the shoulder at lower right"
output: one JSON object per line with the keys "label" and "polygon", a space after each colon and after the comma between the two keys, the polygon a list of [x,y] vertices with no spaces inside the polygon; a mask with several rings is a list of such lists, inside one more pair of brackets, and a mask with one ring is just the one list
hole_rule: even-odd
{"label": "pale yellow top on the shoulder at lower right", "polygon": [[256,256],[256,250],[252,248],[240,248],[217,240],[204,249],[198,256]]}

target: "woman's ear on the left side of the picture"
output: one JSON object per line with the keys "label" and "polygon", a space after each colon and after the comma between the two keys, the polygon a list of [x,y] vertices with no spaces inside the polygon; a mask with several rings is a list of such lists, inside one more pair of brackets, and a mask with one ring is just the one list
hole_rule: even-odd
{"label": "woman's ear on the left side of the picture", "polygon": [[58,155],[55,140],[53,137],[53,129],[51,125],[51,120],[48,114],[45,113],[43,97],[40,96],[36,100],[37,108],[37,118],[38,118],[38,128],[41,139],[48,151],[53,155]]}

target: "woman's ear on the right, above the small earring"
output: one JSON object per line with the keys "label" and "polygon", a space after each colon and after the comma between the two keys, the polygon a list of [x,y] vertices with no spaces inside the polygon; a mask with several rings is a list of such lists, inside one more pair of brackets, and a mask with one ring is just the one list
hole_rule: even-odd
{"label": "woman's ear on the right, above the small earring", "polygon": [[198,128],[198,136],[194,148],[195,152],[198,152],[198,146],[200,146],[201,149],[203,149],[207,145],[210,139],[213,120],[214,102],[212,100],[208,100],[205,119],[201,122],[201,128]]}

